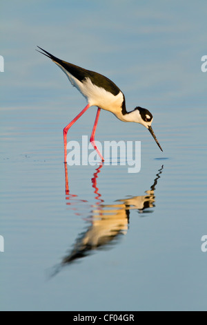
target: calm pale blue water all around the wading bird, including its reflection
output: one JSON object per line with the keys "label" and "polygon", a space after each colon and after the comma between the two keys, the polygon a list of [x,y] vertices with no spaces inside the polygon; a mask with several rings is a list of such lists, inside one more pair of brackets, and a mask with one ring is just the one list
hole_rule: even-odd
{"label": "calm pale blue water all around the wading bird, including its reflection", "polygon": [[[114,20],[109,28],[107,8],[94,1],[79,9],[81,17],[92,12],[94,21],[80,19],[79,26],[73,25],[79,12],[75,5],[68,21],[68,6],[63,10],[52,1],[50,17],[40,16],[37,22],[39,1],[32,1],[31,8],[23,8],[22,1],[13,31],[13,14],[4,5],[8,24],[5,19],[3,24],[11,37],[4,39],[0,53],[6,62],[0,75],[1,310],[206,310],[207,252],[201,251],[201,237],[207,234],[207,74],[200,70],[206,53],[203,34],[196,29],[206,26],[206,18],[195,6],[192,12],[200,14],[195,18],[200,25],[193,23],[192,36],[190,9],[180,5],[177,13],[173,4],[161,12],[158,2],[148,11],[147,4],[132,1],[123,22],[119,17],[128,1],[120,1],[119,8],[110,1],[119,15],[110,12]],[[57,38],[57,22],[58,30],[77,26],[69,37],[80,36],[81,26],[85,28],[71,51],[62,35]],[[99,39],[104,50],[86,46],[83,55],[84,36],[90,45]],[[128,165],[120,164],[66,170],[62,129],[86,103],[55,64],[34,53],[37,41],[57,56],[63,52],[67,59],[69,53],[68,61],[71,57],[108,75],[124,91],[130,108],[148,108],[164,153],[144,127],[101,111],[96,139],[141,141],[141,170],[130,174]],[[134,49],[132,55],[126,47]],[[95,108],[88,110],[70,129],[68,140],[89,138],[95,114]]]}

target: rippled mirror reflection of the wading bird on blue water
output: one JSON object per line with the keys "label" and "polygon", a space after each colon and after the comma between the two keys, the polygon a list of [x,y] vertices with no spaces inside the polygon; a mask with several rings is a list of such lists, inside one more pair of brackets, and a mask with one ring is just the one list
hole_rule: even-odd
{"label": "rippled mirror reflection of the wading bird on blue water", "polygon": [[[155,186],[160,178],[164,166],[156,174],[156,178],[149,190],[142,196],[130,196],[128,198],[119,199],[115,204],[106,205],[101,199],[99,188],[97,187],[97,178],[101,172],[103,165],[99,165],[92,178],[92,187],[95,189],[95,198],[97,203],[92,205],[92,211],[87,221],[90,223],[88,229],[79,236],[73,245],[70,253],[63,258],[61,264],[56,268],[54,274],[59,272],[63,266],[66,266],[72,261],[83,258],[91,254],[94,250],[108,247],[110,243],[115,243],[119,237],[126,234],[128,231],[128,223],[130,218],[130,210],[137,210],[139,213],[152,212],[150,210],[155,207]],[[68,187],[68,169],[65,164],[66,172],[66,201],[67,205],[71,205],[76,195],[70,194]],[[87,202],[79,200],[80,202]],[[73,204],[77,204],[73,202]],[[91,205],[90,205],[91,208]]]}

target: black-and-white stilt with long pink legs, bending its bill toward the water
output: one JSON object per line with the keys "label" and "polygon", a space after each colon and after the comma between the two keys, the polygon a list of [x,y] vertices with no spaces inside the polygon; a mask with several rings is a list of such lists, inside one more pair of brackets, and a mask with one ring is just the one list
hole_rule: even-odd
{"label": "black-and-white stilt with long pink legs, bending its bill toward the water", "polygon": [[[40,48],[39,46],[37,47]],[[43,48],[40,49],[43,50]],[[102,160],[103,157],[95,146],[95,131],[97,129],[101,109],[110,111],[123,122],[137,122],[144,125],[144,127],[150,131],[152,137],[155,139],[157,145],[161,149],[161,146],[159,145],[159,142],[151,127],[153,116],[150,111],[141,107],[136,107],[130,112],[126,111],[124,93],[121,92],[114,82],[97,72],[89,71],[81,68],[80,66],[75,66],[75,64],[58,59],[54,55],[48,53],[46,50],[43,50],[44,53],[40,52],[39,50],[38,52],[46,55],[46,57],[50,57],[50,59],[52,59],[52,61],[55,62],[64,73],[66,73],[71,84],[75,86],[84,97],[86,97],[88,102],[88,105],[83,109],[83,111],[81,111],[81,113],[79,113],[79,115],[77,115],[77,117],[63,129],[65,163],[67,158],[66,146],[68,129],[72,127],[72,124],[74,124],[81,117],[81,115],[83,115],[83,113],[89,109],[90,106],[98,106],[97,116],[92,129],[90,142],[92,142],[93,147],[95,147]]]}

